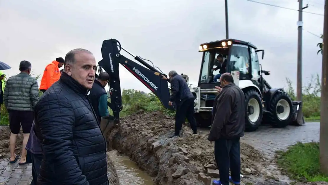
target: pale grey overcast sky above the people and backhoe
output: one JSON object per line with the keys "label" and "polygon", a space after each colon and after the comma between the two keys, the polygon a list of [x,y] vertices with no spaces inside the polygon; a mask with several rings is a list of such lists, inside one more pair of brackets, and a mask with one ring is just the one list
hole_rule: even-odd
{"label": "pale grey overcast sky above the people and backhoe", "polygon": [[[245,0],[228,0],[229,36],[265,50],[260,60],[271,71],[266,80],[296,86],[298,12]],[[256,0],[298,9],[297,0]],[[304,11],[323,14],[324,0],[309,0]],[[303,83],[321,76],[323,16],[303,13]],[[224,0],[0,0],[0,61],[9,64],[9,76],[29,60],[35,74],[57,57],[75,48],[90,50],[101,60],[102,41],[115,38],[122,47],[152,60],[164,73],[176,70],[197,84],[201,43],[225,38]],[[130,57],[126,53],[121,53]],[[131,58],[133,59],[133,58]],[[122,89],[149,90],[122,66]]]}

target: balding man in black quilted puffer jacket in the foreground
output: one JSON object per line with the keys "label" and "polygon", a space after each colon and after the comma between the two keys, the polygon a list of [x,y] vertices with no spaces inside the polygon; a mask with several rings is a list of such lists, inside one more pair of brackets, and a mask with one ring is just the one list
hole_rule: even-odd
{"label": "balding man in black quilted puffer jacket in the foreground", "polygon": [[74,49],[65,71],[35,106],[35,134],[42,141],[38,185],[108,185],[106,142],[87,98],[94,82],[92,53]]}

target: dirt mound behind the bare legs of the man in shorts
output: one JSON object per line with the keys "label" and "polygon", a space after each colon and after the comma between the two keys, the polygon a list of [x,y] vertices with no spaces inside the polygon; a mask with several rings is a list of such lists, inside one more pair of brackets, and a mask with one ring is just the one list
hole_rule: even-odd
{"label": "dirt mound behind the bare legs of the man in shorts", "polygon": [[[0,159],[4,157],[10,157],[9,150],[9,138],[10,138],[10,129],[6,126],[0,127]],[[21,132],[22,133],[22,132]],[[20,155],[22,152],[22,144],[23,144],[23,135],[19,133],[16,139],[16,149],[15,152],[17,155]]]}

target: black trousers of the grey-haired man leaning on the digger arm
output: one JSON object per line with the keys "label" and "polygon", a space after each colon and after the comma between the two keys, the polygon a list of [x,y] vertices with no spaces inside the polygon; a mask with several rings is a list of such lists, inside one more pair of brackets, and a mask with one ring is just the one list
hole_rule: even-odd
{"label": "black trousers of the grey-haired man leaning on the digger arm", "polygon": [[185,100],[179,107],[177,107],[175,112],[175,135],[180,134],[183,122],[189,121],[191,129],[196,132],[197,125],[194,117],[194,98]]}

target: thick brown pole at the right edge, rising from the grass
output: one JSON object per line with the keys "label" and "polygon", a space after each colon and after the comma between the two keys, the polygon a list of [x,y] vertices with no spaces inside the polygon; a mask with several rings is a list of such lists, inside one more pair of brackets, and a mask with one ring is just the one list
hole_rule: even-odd
{"label": "thick brown pole at the right edge, rising from the grass", "polygon": [[[328,0],[325,0],[323,43],[328,43]],[[328,175],[328,49],[322,47],[321,113],[320,113],[320,171]]]}

